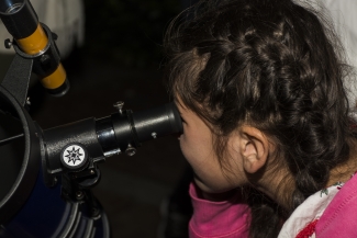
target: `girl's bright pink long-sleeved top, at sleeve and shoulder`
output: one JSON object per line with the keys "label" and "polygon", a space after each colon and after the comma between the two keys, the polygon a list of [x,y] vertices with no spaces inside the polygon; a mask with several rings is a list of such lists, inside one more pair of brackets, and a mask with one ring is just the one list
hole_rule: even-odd
{"label": "girl's bright pink long-sleeved top, at sleeve and shoulder", "polygon": [[[299,234],[304,226],[313,225],[313,235],[310,237],[316,238],[350,238],[357,237],[357,175],[354,175],[344,185],[338,186],[338,192],[319,191],[313,196],[320,197],[322,195],[330,196],[325,200],[324,205],[319,204],[316,211],[323,209],[321,214],[312,214],[311,220],[305,222],[301,228],[293,227]],[[248,222],[249,207],[243,203],[239,192],[237,192],[231,200],[224,202],[211,202],[201,200],[198,196],[198,188],[190,185],[190,195],[192,197],[193,216],[189,224],[190,238],[247,238],[248,237]],[[303,212],[304,207],[310,211],[309,197],[297,209]],[[292,214],[293,216],[293,214]],[[289,219],[299,219],[297,217]],[[288,224],[289,219],[286,224]],[[291,220],[290,220],[291,222]],[[294,224],[294,222],[292,223]],[[300,229],[300,230],[299,230]],[[282,230],[283,231],[283,230]],[[286,230],[285,230],[286,231]],[[286,237],[281,233],[279,237]],[[287,233],[289,234],[289,233]],[[301,235],[301,233],[300,233]],[[288,236],[287,238],[291,238]]]}

